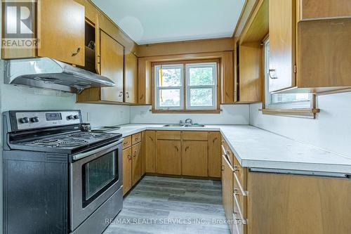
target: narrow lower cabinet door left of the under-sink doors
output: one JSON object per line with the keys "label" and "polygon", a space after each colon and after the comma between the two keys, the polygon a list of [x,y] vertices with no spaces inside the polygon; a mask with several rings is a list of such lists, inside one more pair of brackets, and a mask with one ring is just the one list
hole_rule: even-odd
{"label": "narrow lower cabinet door left of the under-sink doors", "polygon": [[145,132],[145,170],[156,173],[156,131]]}

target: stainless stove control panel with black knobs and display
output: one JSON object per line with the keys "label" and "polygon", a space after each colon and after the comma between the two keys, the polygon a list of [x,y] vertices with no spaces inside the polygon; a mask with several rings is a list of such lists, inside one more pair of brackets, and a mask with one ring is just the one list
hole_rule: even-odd
{"label": "stainless stove control panel with black knobs and display", "polygon": [[39,111],[39,112],[15,112],[11,115],[13,123],[17,124],[18,130],[37,129],[51,126],[65,126],[81,124],[81,112],[79,110],[67,111]]}

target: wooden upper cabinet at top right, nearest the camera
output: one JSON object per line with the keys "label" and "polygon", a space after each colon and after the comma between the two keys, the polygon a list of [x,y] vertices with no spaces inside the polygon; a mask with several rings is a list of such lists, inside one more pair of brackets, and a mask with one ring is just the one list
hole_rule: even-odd
{"label": "wooden upper cabinet at top right, nearest the camera", "polygon": [[350,1],[270,0],[270,91],[351,88]]}

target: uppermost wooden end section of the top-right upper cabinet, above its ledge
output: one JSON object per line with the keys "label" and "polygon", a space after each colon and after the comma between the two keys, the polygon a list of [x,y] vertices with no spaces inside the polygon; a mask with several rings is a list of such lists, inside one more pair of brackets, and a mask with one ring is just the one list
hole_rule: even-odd
{"label": "uppermost wooden end section of the top-right upper cabinet, above its ledge", "polygon": [[350,18],[350,0],[298,0],[298,20]]}

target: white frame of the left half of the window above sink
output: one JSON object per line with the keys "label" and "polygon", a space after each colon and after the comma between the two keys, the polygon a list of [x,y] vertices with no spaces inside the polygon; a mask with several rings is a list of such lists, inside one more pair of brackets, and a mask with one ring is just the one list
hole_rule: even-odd
{"label": "white frame of the left half of the window above sink", "polygon": [[[169,86],[164,87],[159,85],[159,69],[161,68],[180,68],[180,86]],[[156,65],[154,66],[154,80],[155,80],[155,108],[156,110],[183,110],[184,109],[184,66],[183,64],[172,64],[172,65]],[[180,90],[180,106],[160,106],[159,105],[159,91],[161,90],[170,90],[170,89],[179,89]]]}

